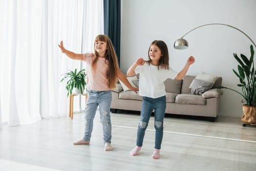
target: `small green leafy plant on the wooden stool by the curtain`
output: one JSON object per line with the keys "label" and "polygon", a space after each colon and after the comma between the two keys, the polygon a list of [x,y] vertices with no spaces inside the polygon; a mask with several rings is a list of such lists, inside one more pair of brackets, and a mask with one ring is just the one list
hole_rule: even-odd
{"label": "small green leafy plant on the wooden stool by the curtain", "polygon": [[68,91],[67,96],[72,94],[72,92],[75,89],[78,89],[78,92],[76,93],[83,93],[83,90],[85,88],[86,82],[86,72],[85,69],[81,69],[80,71],[77,70],[77,68],[74,71],[69,70],[69,72],[62,74],[63,78],[60,80],[62,82],[63,80],[67,79],[67,85],[66,89]]}

